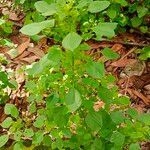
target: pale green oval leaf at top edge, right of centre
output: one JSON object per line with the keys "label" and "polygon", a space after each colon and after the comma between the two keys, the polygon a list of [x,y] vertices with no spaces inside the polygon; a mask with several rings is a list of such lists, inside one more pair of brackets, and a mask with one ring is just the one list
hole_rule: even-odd
{"label": "pale green oval leaf at top edge, right of centre", "polygon": [[109,5],[109,1],[93,1],[88,7],[88,11],[91,13],[98,13],[105,10]]}

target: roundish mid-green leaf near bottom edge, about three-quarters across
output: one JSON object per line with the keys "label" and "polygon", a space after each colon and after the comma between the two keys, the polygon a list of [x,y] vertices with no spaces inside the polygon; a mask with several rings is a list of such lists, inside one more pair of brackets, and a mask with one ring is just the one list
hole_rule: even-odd
{"label": "roundish mid-green leaf near bottom edge, about three-quarters across", "polygon": [[125,136],[118,131],[113,132],[110,141],[117,145],[118,147],[123,146],[125,141]]}

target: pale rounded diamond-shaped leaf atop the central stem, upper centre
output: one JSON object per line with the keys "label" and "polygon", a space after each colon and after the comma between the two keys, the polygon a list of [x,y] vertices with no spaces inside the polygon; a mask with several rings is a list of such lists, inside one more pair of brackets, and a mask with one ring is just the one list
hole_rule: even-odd
{"label": "pale rounded diamond-shaped leaf atop the central stem, upper centre", "polygon": [[81,43],[82,38],[75,32],[69,33],[62,41],[62,46],[65,49],[74,51]]}

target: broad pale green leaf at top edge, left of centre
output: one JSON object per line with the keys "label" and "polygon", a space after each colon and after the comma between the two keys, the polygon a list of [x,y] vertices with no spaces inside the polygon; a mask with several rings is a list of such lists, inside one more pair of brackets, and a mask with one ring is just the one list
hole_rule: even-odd
{"label": "broad pale green leaf at top edge, left of centre", "polygon": [[57,7],[55,4],[49,5],[45,1],[38,1],[34,6],[37,11],[42,13],[43,16],[51,16],[57,12]]}

